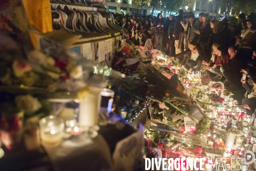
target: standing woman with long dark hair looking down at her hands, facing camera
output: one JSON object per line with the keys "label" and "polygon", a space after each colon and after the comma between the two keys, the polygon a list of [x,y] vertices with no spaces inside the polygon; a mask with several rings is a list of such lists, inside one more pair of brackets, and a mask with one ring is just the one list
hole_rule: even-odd
{"label": "standing woman with long dark hair looking down at her hands, facing camera", "polygon": [[[162,50],[163,46],[163,28],[165,26],[163,15],[157,14],[157,18],[154,21],[153,27],[155,28],[156,48]],[[159,47],[158,47],[159,46]]]}

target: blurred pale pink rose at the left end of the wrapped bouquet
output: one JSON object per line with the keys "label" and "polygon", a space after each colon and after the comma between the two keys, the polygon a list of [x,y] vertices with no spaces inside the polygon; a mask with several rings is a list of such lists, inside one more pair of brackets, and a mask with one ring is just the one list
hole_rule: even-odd
{"label": "blurred pale pink rose at the left end of the wrapped bouquet", "polygon": [[16,77],[22,77],[26,72],[31,71],[32,67],[25,60],[23,61],[15,60],[12,64],[12,69]]}

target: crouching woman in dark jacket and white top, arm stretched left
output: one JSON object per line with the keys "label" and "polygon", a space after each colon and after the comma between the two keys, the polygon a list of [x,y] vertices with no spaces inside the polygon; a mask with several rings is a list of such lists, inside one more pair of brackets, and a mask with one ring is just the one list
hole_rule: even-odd
{"label": "crouching woman in dark jacket and white top, arm stretched left", "polygon": [[192,41],[189,43],[189,50],[186,50],[182,53],[174,55],[170,59],[180,58],[180,57],[183,57],[184,55],[187,55],[188,57],[186,60],[186,64],[188,64],[189,67],[187,69],[189,68],[194,69],[194,67],[197,66],[196,71],[199,71],[203,61],[202,59],[205,56],[204,51],[202,49],[198,49],[196,47],[196,43]]}

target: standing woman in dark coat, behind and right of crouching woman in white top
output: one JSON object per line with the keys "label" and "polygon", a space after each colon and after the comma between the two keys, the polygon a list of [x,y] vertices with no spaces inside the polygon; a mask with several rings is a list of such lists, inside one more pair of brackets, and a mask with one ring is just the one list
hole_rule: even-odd
{"label": "standing woman in dark coat, behind and right of crouching woman in white top", "polygon": [[209,14],[204,14],[203,15],[203,23],[200,26],[200,30],[197,30],[196,33],[200,35],[198,39],[198,43],[200,44],[200,47],[205,51],[209,52],[210,54],[210,47],[212,46],[211,44],[208,44],[208,40],[210,38],[210,35],[212,33],[212,29],[210,26],[210,17]]}

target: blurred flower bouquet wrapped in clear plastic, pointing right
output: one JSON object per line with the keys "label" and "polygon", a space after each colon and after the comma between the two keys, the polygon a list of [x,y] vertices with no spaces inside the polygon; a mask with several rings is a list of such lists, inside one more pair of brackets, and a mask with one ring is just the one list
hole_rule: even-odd
{"label": "blurred flower bouquet wrapped in clear plastic, pointing right", "polygon": [[102,75],[102,78],[120,78],[122,75],[48,38],[38,38],[39,43],[34,48],[27,37],[22,37],[23,46],[20,46],[23,47],[20,51],[25,53],[1,49],[2,89],[29,89],[37,93],[77,91],[86,85],[93,74]]}

